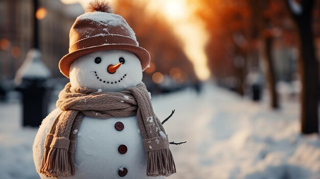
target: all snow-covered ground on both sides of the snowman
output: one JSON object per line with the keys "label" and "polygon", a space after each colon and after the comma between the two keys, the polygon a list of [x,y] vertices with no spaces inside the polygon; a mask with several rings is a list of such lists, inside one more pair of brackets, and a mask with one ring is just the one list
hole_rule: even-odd
{"label": "all snow-covered ground on both sides of the snowman", "polygon": [[[200,95],[187,89],[152,96],[164,119],[177,173],[170,179],[320,178],[320,138],[299,133],[299,106],[285,99],[281,110],[253,103],[206,84]],[[0,178],[39,178],[32,159],[37,129],[20,126],[16,100],[0,103]],[[132,178],[134,179],[134,178]],[[139,178],[137,178],[139,179]]]}

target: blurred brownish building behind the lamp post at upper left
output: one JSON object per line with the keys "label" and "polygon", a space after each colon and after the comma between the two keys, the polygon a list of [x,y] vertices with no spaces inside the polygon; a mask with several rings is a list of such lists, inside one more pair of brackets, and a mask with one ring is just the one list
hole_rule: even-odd
{"label": "blurred brownish building behind the lamp post at upper left", "polygon": [[[53,77],[62,76],[58,62],[68,52],[68,34],[75,18],[83,13],[80,4],[39,0],[39,48]],[[0,1],[0,79],[13,79],[32,48],[33,1]]]}

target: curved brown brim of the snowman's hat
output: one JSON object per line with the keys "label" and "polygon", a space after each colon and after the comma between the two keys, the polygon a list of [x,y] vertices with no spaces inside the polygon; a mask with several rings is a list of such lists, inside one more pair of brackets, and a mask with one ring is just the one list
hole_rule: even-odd
{"label": "curved brown brim of the snowman's hat", "polygon": [[92,47],[78,49],[72,53],[69,53],[63,56],[59,62],[60,72],[64,76],[66,76],[66,78],[69,78],[70,66],[75,60],[90,53],[94,53],[100,50],[110,50],[110,49],[126,50],[128,52],[133,53],[136,57],[139,58],[141,62],[142,71],[144,71],[150,63],[149,52],[140,46],[135,46],[130,44],[104,44],[99,46],[92,46]]}

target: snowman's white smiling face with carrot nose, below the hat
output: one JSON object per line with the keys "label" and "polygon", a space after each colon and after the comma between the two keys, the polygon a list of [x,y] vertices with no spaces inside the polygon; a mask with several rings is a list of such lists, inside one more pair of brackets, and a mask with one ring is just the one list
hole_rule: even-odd
{"label": "snowman's white smiling face with carrot nose, below the hat", "polygon": [[125,50],[102,50],[72,63],[70,83],[75,88],[122,91],[142,81],[138,57]]}

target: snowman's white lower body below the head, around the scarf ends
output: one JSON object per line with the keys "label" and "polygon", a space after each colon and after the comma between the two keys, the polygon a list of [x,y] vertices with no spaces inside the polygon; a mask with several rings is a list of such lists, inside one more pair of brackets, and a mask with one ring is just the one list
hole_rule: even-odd
{"label": "snowman's white lower body below the head, around the scarf ends", "polygon": [[[45,135],[60,112],[60,109],[56,109],[48,115],[37,133],[33,146],[34,154],[38,154],[34,155],[37,171],[42,162]],[[119,122],[123,125],[121,131],[119,126],[115,125]],[[58,178],[165,178],[146,176],[147,155],[136,116],[109,119],[85,116],[77,133],[75,175]],[[127,147],[126,152],[121,151],[123,145]],[[119,171],[127,173],[121,177]],[[49,178],[43,174],[40,176],[42,179]]]}

